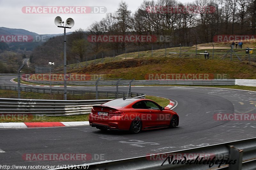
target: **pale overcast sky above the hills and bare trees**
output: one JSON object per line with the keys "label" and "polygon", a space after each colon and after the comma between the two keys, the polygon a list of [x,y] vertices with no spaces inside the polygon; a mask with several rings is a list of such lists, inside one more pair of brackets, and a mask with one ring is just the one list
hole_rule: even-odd
{"label": "pale overcast sky above the hills and bare trees", "polygon": [[[143,0],[123,0],[128,4],[128,10],[134,12]],[[194,0],[179,0],[179,2],[193,2]],[[63,33],[63,29],[54,24],[54,18],[60,16],[62,20],[73,18],[75,25],[67,32],[76,29],[86,29],[94,21],[100,21],[105,13],[88,14],[49,14],[49,13],[23,13],[22,8],[26,6],[103,6],[107,12],[117,10],[121,0],[0,0],[0,27],[21,28],[38,34]]]}

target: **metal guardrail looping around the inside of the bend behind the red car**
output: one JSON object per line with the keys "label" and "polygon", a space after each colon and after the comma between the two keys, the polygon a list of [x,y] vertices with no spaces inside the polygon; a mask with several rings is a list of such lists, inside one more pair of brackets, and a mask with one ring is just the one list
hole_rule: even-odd
{"label": "metal guardrail looping around the inside of the bend behind the red car", "polygon": [[[18,90],[15,86],[0,85],[0,89],[5,90]],[[21,87],[22,91],[26,92],[47,92],[50,93],[50,89],[46,88],[33,88],[33,87]],[[63,90],[52,89],[52,93],[62,93]],[[68,90],[68,94],[85,95],[95,94],[94,91],[79,91]],[[99,96],[108,96],[116,98],[116,92],[99,92]],[[117,98],[123,98],[127,96],[127,92],[118,92]],[[131,97],[145,98],[145,94],[131,93]],[[105,103],[113,99],[103,100],[32,100],[32,99],[8,99],[0,98],[0,113],[21,113],[21,114],[37,114],[39,116],[59,116],[59,115],[80,115],[91,113],[92,106]]]}

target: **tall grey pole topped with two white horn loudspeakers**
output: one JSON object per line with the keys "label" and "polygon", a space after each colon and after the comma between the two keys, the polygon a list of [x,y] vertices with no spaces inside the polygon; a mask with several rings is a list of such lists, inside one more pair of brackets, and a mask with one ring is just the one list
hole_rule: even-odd
{"label": "tall grey pole topped with two white horn loudspeakers", "polygon": [[[60,28],[64,28],[64,100],[67,100],[67,57],[66,57],[66,28],[72,28],[75,24],[72,18],[66,20],[66,26],[64,26],[64,21],[58,16],[55,18],[54,23]],[[63,26],[61,26],[63,24]]]}

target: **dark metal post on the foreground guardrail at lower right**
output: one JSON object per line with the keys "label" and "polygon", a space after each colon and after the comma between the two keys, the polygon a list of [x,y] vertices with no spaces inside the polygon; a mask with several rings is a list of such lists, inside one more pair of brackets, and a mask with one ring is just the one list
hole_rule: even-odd
{"label": "dark metal post on the foreground guardrail at lower right", "polygon": [[229,164],[228,170],[241,170],[243,163],[243,151],[235,148],[233,145],[229,146],[230,160],[236,160],[236,164]]}

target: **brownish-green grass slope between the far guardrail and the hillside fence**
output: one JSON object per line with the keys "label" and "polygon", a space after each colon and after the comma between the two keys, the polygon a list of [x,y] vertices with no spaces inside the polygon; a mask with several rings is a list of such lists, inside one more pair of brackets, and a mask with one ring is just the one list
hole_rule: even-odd
{"label": "brownish-green grass slope between the far guardrail and the hillside fence", "polygon": [[256,79],[256,67],[237,61],[144,57],[90,65],[69,73],[104,74],[107,78],[147,79],[150,73],[227,74],[227,78]]}

